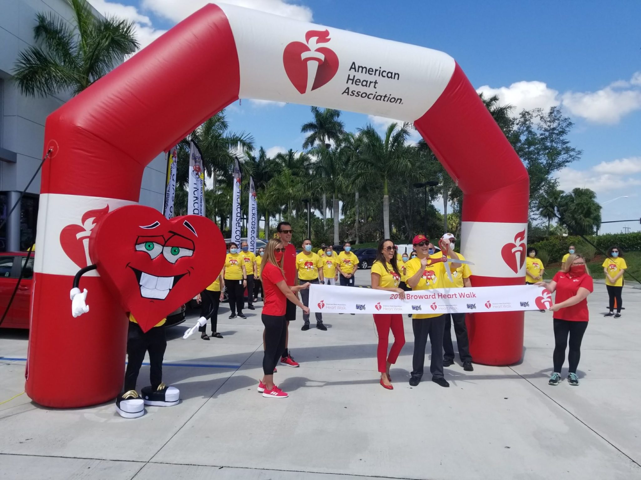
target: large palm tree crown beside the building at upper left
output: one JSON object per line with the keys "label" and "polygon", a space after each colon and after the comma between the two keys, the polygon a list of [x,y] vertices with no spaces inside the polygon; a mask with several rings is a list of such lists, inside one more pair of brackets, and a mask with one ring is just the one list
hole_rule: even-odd
{"label": "large palm tree crown beside the building at upper left", "polygon": [[36,15],[33,34],[42,46],[22,51],[13,74],[24,95],[65,90],[78,95],[140,47],[133,22],[99,19],[86,0],[66,1],[73,10],[72,26],[53,12]]}

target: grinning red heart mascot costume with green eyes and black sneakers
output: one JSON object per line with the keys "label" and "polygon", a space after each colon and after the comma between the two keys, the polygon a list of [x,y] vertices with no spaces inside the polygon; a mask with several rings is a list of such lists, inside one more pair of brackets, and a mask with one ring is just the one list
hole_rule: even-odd
{"label": "grinning red heart mascot costume with green eyes and black sneakers", "polygon": [[[79,289],[84,273],[97,269],[113,301],[129,321],[128,364],[116,410],[125,418],[144,415],[145,405],[171,406],[179,401],[178,388],[162,381],[167,339],[165,319],[210,285],[221,271],[225,242],[208,218],[187,215],[166,220],[151,207],[128,205],[104,215],[92,230],[92,265],[78,271],[71,290],[72,315],[89,311],[87,292]],[[202,325],[201,318],[185,338]],[[114,321],[120,321],[114,319]],[[138,372],[149,352],[148,387],[136,390]]]}

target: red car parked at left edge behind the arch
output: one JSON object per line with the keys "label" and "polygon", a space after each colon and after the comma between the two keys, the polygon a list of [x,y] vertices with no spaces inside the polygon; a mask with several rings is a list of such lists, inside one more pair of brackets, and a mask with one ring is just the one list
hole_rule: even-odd
{"label": "red car parked at left edge behind the arch", "polygon": [[[29,308],[31,308],[31,283],[33,279],[33,255],[29,257],[29,262],[22,273],[22,280],[18,291],[15,292],[15,298],[11,308],[4,318],[0,328],[29,328]],[[27,252],[2,252],[0,253],[0,318],[9,303],[9,299],[15,289],[15,284],[20,276],[20,269],[24,266]],[[71,285],[69,287],[71,289]],[[174,326],[185,321],[185,305],[167,316],[165,326]],[[69,302],[69,311],[71,312],[71,301]]]}

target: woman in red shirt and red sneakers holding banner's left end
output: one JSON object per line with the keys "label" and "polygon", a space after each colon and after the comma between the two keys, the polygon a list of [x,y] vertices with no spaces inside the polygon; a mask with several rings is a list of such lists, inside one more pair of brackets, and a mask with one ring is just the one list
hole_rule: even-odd
{"label": "woman in red shirt and red sneakers holding banner's left end", "polygon": [[280,239],[272,238],[265,246],[262,269],[260,272],[263,282],[263,313],[265,325],[265,354],[263,356],[263,379],[258,382],[258,392],[267,398],[286,398],[288,395],[274,385],[274,368],[285,350],[287,338],[287,321],[285,311],[286,299],[309,314],[310,309],[301,303],[294,292],[308,289],[310,284],[288,287],[283,273],[283,253],[285,246]]}

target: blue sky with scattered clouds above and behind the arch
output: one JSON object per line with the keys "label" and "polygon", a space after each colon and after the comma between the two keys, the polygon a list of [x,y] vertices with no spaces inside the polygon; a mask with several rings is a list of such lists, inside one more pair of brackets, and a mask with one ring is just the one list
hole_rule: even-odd
{"label": "blue sky with scattered clouds above and behind the arch", "polygon": [[[89,0],[97,10],[137,22],[146,45],[201,8],[204,0]],[[603,220],[641,217],[641,2],[379,0],[228,0],[300,20],[447,52],[479,90],[517,108],[560,105],[575,126],[581,161],[559,175],[565,189],[588,187]],[[242,100],[228,108],[231,128],[251,132],[273,153],[301,149],[308,106]],[[389,120],[345,112],[345,127]],[[438,205],[438,204],[437,204]],[[604,225],[641,230],[637,222]]]}

